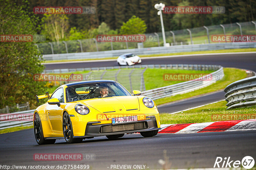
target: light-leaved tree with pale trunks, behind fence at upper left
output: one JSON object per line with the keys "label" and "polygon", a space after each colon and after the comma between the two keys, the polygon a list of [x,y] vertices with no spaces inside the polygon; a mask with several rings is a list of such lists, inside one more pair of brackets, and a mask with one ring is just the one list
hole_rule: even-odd
{"label": "light-leaved tree with pale trunks, behind fence at upper left", "polygon": [[51,41],[61,41],[65,39],[68,31],[68,17],[65,14],[44,14],[42,18],[43,31],[47,39]]}

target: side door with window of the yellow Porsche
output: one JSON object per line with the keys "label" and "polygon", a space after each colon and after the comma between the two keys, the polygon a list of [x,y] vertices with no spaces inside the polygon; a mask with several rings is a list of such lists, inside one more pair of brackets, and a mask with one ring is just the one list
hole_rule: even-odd
{"label": "side door with window of the yellow Porsche", "polygon": [[[60,104],[64,103],[63,88],[57,89],[50,97],[50,99],[53,99],[53,98],[59,99]],[[48,104],[47,103],[46,111],[47,111],[47,115],[50,120],[50,124],[52,126],[52,131],[54,133],[63,133],[62,121],[61,121],[62,120],[61,113],[63,111],[62,108],[61,108],[61,106],[59,107],[57,104]]]}

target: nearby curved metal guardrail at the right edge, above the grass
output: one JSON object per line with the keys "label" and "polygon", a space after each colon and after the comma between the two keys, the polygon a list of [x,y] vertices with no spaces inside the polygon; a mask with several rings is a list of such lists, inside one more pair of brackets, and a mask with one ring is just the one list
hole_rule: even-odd
{"label": "nearby curved metal guardrail at the right edge, above the grass", "polygon": [[256,76],[235,81],[224,91],[227,109],[256,105]]}

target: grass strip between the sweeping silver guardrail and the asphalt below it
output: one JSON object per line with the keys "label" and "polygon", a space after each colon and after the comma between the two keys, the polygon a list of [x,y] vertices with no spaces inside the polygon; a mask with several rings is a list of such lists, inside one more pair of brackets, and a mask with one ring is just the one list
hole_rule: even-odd
{"label": "grass strip between the sweeping silver guardrail and the asphalt below it", "polygon": [[244,70],[241,70],[238,68],[224,68],[223,70],[224,70],[224,74],[225,74],[224,79],[217,81],[216,83],[213,83],[210,86],[192,91],[190,93],[185,93],[185,94],[181,94],[181,95],[175,95],[175,96],[171,96],[171,97],[164,97],[161,99],[157,99],[157,100],[155,100],[156,105],[173,102],[173,101],[177,101],[177,100],[181,100],[181,99],[186,99],[189,97],[194,97],[197,95],[203,95],[206,93],[225,89],[225,87],[227,87],[230,83],[237,81],[237,80],[244,79],[244,78],[246,78],[246,75],[247,75]]}

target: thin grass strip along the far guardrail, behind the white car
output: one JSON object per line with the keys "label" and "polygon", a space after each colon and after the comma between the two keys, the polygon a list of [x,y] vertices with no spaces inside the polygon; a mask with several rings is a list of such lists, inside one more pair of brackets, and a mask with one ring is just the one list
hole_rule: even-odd
{"label": "thin grass strip along the far guardrail, behind the white car", "polygon": [[[208,41],[207,41],[208,42]],[[256,48],[243,48],[243,49],[228,49],[228,50],[209,50],[209,51],[194,51],[194,52],[180,52],[180,53],[167,53],[167,54],[150,54],[150,55],[140,55],[140,57],[156,57],[156,56],[168,56],[168,55],[185,55],[185,54],[204,54],[204,53],[230,53],[230,52],[252,52],[256,51]],[[116,57],[105,57],[98,59],[77,59],[77,60],[51,60],[44,61],[45,63],[51,62],[64,62],[64,61],[85,61],[85,60],[108,60],[117,59]],[[143,59],[143,58],[142,58]],[[142,62],[143,64],[143,62]]]}

